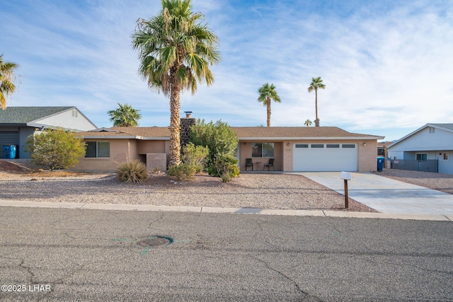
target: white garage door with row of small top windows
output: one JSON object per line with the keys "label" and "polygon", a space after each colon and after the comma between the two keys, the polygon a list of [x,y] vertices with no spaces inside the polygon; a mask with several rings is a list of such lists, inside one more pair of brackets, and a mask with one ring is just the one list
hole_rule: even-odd
{"label": "white garage door with row of small top windows", "polygon": [[357,171],[357,144],[294,144],[294,171]]}

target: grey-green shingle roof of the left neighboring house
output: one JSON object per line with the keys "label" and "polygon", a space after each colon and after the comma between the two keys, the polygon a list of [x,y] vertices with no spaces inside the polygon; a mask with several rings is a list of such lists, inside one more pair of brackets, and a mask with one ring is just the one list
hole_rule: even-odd
{"label": "grey-green shingle roof of the left neighboring house", "polygon": [[72,108],[75,107],[7,107],[0,110],[0,124],[27,124]]}

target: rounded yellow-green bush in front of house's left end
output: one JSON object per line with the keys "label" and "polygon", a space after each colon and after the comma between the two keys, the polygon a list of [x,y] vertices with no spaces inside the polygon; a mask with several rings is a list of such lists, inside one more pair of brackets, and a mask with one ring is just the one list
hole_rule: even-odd
{"label": "rounded yellow-green bush in front of house's left end", "polygon": [[74,166],[85,156],[84,139],[64,129],[46,129],[41,134],[32,134],[25,140],[24,147],[35,165],[51,171]]}

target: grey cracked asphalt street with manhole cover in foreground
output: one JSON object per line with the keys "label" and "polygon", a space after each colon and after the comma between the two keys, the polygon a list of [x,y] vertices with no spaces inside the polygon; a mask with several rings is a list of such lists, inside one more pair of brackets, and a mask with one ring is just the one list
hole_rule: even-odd
{"label": "grey cracked asphalt street with manhole cover in foreground", "polygon": [[0,207],[0,228],[1,301],[453,300],[451,221]]}

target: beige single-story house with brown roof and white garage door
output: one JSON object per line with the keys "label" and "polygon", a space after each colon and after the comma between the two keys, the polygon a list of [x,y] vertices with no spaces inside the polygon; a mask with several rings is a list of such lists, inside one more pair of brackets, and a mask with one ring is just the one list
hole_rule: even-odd
{"label": "beige single-story house with brown roof and white garage door", "polygon": [[[384,139],[338,127],[231,129],[239,138],[236,158],[241,170],[251,170],[246,167],[246,158],[251,158],[253,170],[264,170],[270,158],[278,171],[377,170],[377,139]],[[75,170],[115,170],[120,163],[134,159],[146,163],[148,170],[166,170],[168,127],[112,127],[80,135],[86,141],[87,152]]]}

